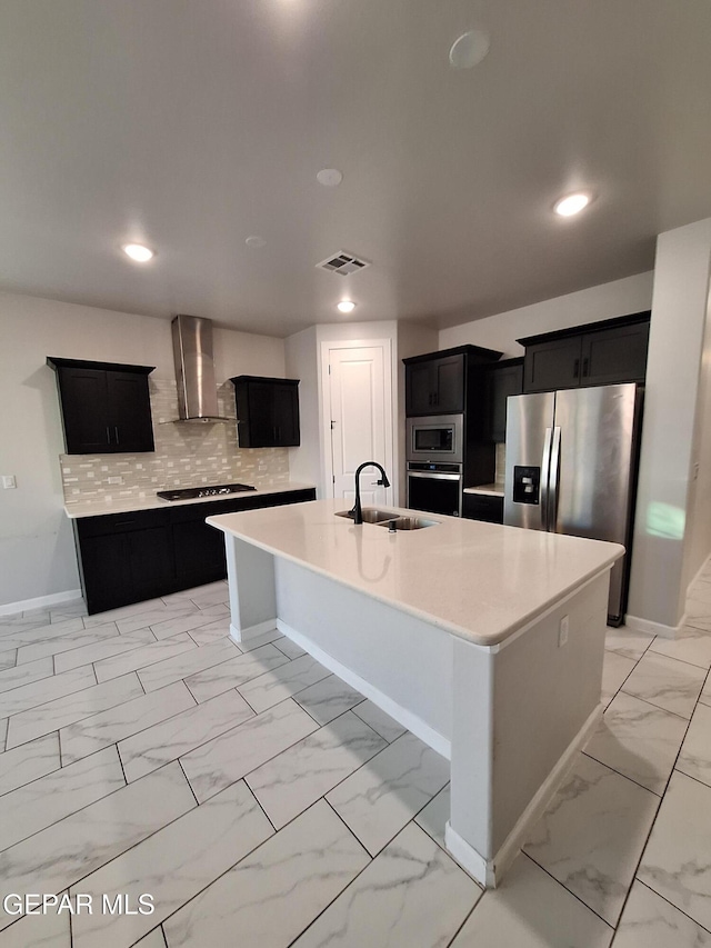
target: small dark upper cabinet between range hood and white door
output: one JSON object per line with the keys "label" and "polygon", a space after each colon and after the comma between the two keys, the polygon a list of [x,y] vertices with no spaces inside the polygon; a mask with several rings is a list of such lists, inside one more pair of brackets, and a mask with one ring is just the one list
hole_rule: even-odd
{"label": "small dark upper cabinet between range hood and white door", "polygon": [[294,448],[299,435],[299,379],[236,376],[240,448]]}

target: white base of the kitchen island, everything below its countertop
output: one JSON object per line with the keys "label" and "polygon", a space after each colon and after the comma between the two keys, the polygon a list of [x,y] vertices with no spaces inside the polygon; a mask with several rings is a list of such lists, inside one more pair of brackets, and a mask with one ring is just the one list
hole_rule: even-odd
{"label": "white base of the kitchen island, everything below its countertop", "polygon": [[226,545],[233,637],[278,628],[449,756],[448,845],[495,886],[598,720],[609,567],[482,646],[227,530]]}

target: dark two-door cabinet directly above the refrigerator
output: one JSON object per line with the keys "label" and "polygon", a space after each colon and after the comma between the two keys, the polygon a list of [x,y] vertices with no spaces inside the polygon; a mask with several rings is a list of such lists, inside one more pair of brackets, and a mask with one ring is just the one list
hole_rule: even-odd
{"label": "dark two-door cabinet directly above the refrigerator", "polygon": [[525,347],[523,391],[643,382],[649,311],[518,341]]}

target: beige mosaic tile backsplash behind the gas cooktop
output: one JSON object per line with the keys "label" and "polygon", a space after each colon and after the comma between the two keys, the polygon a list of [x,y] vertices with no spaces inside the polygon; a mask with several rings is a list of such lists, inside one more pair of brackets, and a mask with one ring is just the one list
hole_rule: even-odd
{"label": "beige mosaic tile backsplash behind the gas cooktop", "polygon": [[[149,379],[156,451],[138,455],[61,455],[68,505],[144,497],[174,487],[239,481],[268,487],[289,480],[288,448],[242,448],[237,441],[234,389],[218,387],[222,417],[234,423],[173,423],[174,381]],[[119,480],[120,479],[120,480]]]}

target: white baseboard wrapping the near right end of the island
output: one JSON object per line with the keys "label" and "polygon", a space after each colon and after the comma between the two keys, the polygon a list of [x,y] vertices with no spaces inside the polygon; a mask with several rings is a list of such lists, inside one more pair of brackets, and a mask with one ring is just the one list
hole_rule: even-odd
{"label": "white baseboard wrapping the near right end of the island", "polygon": [[588,720],[568,745],[558,764],[553,767],[543,784],[541,784],[538,792],[517,820],[515,826],[493,859],[485,859],[457,830],[452,829],[449,820],[447,821],[444,829],[447,848],[454,859],[484,888],[495,888],[501,881],[504,872],[515,859],[519,849],[521,849],[528,839],[531,829],[543,815],[545,808],[573,769],[579,751],[582,750],[602,720],[602,705],[598,705],[588,717]]}

